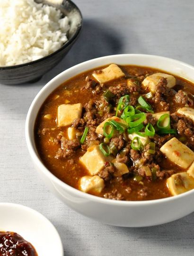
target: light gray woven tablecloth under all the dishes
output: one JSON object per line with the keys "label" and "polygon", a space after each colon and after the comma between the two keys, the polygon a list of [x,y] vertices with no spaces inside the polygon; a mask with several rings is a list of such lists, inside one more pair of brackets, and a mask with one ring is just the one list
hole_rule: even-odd
{"label": "light gray woven tablecloth under all the dishes", "polygon": [[66,256],[194,255],[194,213],[156,227],[111,227],[72,211],[37,176],[26,149],[26,113],[37,92],[58,73],[118,53],[157,54],[194,65],[193,0],[75,2],[84,26],[66,58],[35,84],[0,85],[0,202],[43,213],[59,231]]}

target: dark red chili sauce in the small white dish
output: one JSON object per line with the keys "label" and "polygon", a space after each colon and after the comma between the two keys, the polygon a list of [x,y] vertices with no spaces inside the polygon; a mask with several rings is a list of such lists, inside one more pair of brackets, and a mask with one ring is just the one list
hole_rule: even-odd
{"label": "dark red chili sauce in the small white dish", "polygon": [[38,256],[35,248],[15,232],[0,231],[0,256]]}

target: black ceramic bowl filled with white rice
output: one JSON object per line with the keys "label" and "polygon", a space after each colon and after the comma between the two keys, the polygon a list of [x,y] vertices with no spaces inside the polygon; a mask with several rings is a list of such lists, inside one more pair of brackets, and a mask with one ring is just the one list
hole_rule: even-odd
{"label": "black ceramic bowl filled with white rice", "polygon": [[40,79],[71,49],[82,16],[71,0],[0,1],[0,83]]}

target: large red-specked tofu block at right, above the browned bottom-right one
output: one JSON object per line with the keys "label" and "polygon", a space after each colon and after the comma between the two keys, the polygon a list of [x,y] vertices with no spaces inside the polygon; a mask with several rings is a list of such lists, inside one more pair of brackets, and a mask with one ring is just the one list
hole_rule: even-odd
{"label": "large red-specked tofu block at right, above the browned bottom-right one", "polygon": [[194,161],[194,152],[175,137],[167,141],[160,151],[176,165],[186,169]]}

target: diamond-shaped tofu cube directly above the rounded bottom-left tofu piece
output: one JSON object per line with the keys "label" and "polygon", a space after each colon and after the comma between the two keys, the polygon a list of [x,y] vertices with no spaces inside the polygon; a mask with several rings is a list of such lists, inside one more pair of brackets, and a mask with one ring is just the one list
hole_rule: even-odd
{"label": "diamond-shaped tofu cube directly above the rounded bottom-left tofu piece", "polygon": [[86,167],[90,175],[98,174],[104,168],[105,162],[111,160],[111,156],[105,157],[99,145],[89,147],[87,152],[79,159],[80,163]]}

